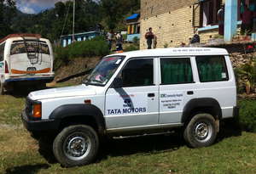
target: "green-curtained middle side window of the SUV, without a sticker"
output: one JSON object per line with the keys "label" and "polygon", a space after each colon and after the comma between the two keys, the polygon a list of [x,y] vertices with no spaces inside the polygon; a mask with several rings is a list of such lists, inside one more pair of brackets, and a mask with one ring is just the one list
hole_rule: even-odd
{"label": "green-curtained middle side window of the SUV, without a sticker", "polygon": [[189,58],[160,59],[161,84],[181,84],[193,82]]}

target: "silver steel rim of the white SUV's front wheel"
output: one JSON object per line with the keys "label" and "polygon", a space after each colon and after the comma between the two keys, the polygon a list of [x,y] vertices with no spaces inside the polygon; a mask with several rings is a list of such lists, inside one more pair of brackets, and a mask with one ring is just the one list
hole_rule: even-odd
{"label": "silver steel rim of the white SUV's front wheel", "polygon": [[82,160],[86,157],[91,149],[91,141],[84,133],[73,133],[68,136],[63,143],[64,154],[70,160]]}

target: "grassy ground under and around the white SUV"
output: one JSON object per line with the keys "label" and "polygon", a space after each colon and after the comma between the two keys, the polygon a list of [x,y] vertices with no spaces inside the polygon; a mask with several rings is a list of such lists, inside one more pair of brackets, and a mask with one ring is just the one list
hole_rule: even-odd
{"label": "grassy ground under and around the white SUV", "polygon": [[113,139],[102,144],[96,163],[62,168],[21,125],[25,97],[0,96],[0,173],[256,173],[256,134],[230,124],[208,148],[189,149],[176,134]]}

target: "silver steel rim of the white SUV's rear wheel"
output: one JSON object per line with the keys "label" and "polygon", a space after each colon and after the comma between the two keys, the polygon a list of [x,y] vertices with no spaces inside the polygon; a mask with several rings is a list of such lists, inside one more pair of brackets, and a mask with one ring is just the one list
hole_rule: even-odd
{"label": "silver steel rim of the white SUV's rear wheel", "polygon": [[199,142],[207,142],[212,138],[212,125],[207,122],[199,122],[194,129],[195,138]]}

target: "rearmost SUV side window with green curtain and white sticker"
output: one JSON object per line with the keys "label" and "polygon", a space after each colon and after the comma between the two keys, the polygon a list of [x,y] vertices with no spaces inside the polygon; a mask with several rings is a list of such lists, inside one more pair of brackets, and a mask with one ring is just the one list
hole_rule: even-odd
{"label": "rearmost SUV side window with green curtain and white sticker", "polygon": [[197,56],[195,59],[201,82],[229,80],[224,56]]}

